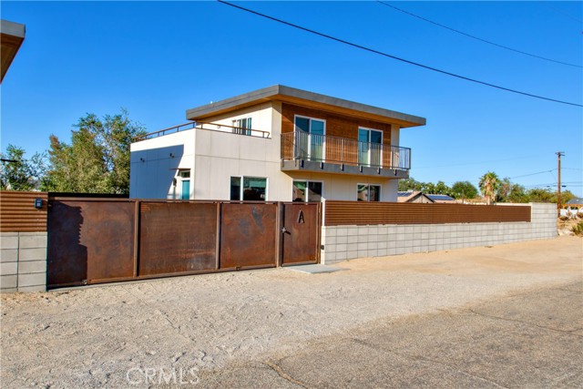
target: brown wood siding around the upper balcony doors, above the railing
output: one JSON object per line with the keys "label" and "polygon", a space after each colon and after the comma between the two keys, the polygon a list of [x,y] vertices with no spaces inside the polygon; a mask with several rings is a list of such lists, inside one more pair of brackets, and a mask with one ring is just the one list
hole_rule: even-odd
{"label": "brown wood siding around the upper balcony doors, above the railing", "polygon": [[321,111],[318,109],[294,106],[283,103],[281,105],[281,133],[293,132],[295,115],[308,118],[320,118],[326,120],[326,135],[333,137],[358,139],[358,128],[373,128],[383,131],[383,143],[391,144],[391,125],[372,120],[352,118]]}

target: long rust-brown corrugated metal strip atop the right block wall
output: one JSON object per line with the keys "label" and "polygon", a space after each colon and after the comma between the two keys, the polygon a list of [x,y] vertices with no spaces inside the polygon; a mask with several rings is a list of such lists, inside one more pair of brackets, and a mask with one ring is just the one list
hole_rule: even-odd
{"label": "long rust-brown corrugated metal strip atop the right block wall", "polygon": [[326,201],[326,226],[530,221],[529,205]]}

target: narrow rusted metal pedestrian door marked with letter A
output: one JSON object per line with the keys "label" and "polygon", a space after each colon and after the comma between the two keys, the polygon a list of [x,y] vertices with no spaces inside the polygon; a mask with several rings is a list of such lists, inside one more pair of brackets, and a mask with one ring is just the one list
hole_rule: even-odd
{"label": "narrow rusted metal pedestrian door marked with letter A", "polygon": [[281,265],[320,261],[320,209],[318,202],[284,203]]}

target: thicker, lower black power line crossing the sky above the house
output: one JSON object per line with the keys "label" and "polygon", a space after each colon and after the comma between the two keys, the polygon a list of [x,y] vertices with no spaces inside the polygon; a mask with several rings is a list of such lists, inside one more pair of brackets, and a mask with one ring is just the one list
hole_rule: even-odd
{"label": "thicker, lower black power line crossing the sky above the house", "polygon": [[435,67],[429,67],[429,66],[426,66],[426,65],[423,65],[423,64],[419,64],[419,63],[414,62],[414,61],[410,61],[408,59],[401,58],[399,56],[393,56],[393,55],[384,53],[382,51],[375,50],[375,49],[370,48],[370,47],[361,46],[361,45],[358,45],[358,44],[355,44],[355,43],[352,43],[352,42],[343,40],[341,38],[337,38],[337,37],[334,37],[334,36],[329,36],[327,34],[320,33],[318,31],[312,30],[312,29],[307,28],[307,27],[302,27],[302,26],[294,25],[291,22],[286,22],[285,20],[281,20],[281,19],[278,19],[277,17],[273,17],[273,16],[270,16],[270,15],[261,14],[260,12],[253,11],[253,10],[251,10],[249,8],[245,8],[245,7],[240,6],[240,5],[234,5],[234,4],[228,3],[228,2],[226,2],[224,0],[217,0],[217,1],[219,3],[221,3],[221,4],[230,5],[230,6],[234,7],[234,8],[240,9],[241,11],[249,12],[249,13],[251,13],[253,15],[258,15],[258,16],[264,17],[266,19],[270,19],[270,20],[272,20],[274,22],[278,22],[278,23],[281,23],[281,24],[286,25],[286,26],[291,26],[291,27],[294,27],[294,28],[298,28],[298,29],[300,29],[302,31],[305,31],[305,32],[308,32],[310,34],[314,34],[314,35],[317,35],[317,36],[322,36],[322,37],[325,37],[327,39],[331,39],[333,41],[343,43],[344,45],[348,45],[348,46],[353,46],[353,47],[356,47],[356,48],[360,48],[360,49],[365,50],[365,51],[368,51],[370,53],[378,54],[379,56],[386,56],[388,58],[393,58],[393,59],[396,59],[397,61],[404,62],[405,64],[414,65],[415,67],[423,67],[424,69],[432,70],[434,72],[441,73],[441,74],[444,74],[446,76],[451,76],[451,77],[456,77],[456,78],[464,79],[465,81],[470,81],[470,82],[474,82],[476,84],[485,85],[486,87],[494,87],[496,89],[506,90],[506,92],[516,93],[517,95],[523,95],[523,96],[528,96],[528,97],[535,97],[535,98],[539,98],[539,99],[547,100],[547,101],[554,101],[556,103],[566,104],[568,106],[583,107],[583,105],[578,104],[578,103],[571,103],[571,102],[568,102],[568,101],[557,100],[555,98],[533,95],[531,93],[522,92],[522,91],[519,91],[517,89],[511,89],[509,87],[501,87],[501,86],[497,86],[495,84],[490,84],[490,83],[485,82],[485,81],[477,80],[476,78],[470,78],[470,77],[456,75],[455,73],[451,73],[451,72],[448,72],[448,71],[445,71],[445,70],[437,69]]}

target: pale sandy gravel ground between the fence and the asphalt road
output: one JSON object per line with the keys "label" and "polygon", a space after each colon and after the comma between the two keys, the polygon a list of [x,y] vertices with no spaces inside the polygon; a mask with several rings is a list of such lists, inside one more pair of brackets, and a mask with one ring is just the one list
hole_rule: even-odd
{"label": "pale sandy gravel ground between the fence and the asphalt road", "polygon": [[[230,384],[204,380],[373,323],[580,284],[582,258],[580,238],[560,237],[346,261],[325,274],[241,271],[3,295],[1,384],[148,387],[136,374],[150,369],[196,376],[186,387],[236,386],[232,374]],[[301,383],[252,386],[271,384]]]}

